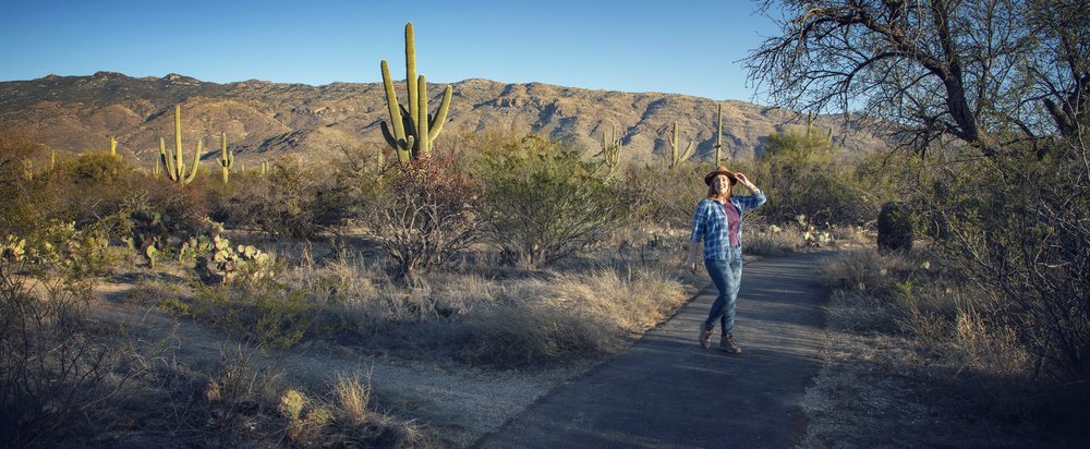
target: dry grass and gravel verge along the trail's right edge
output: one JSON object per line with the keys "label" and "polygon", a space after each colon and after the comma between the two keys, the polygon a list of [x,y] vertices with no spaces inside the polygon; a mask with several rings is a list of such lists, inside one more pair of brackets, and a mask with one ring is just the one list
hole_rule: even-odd
{"label": "dry grass and gravel verge along the trail's right edge", "polygon": [[1085,413],[1034,377],[1031,354],[994,318],[1005,313],[994,295],[932,266],[925,251],[851,252],[823,271],[835,291],[803,447],[1086,442],[1063,424]]}

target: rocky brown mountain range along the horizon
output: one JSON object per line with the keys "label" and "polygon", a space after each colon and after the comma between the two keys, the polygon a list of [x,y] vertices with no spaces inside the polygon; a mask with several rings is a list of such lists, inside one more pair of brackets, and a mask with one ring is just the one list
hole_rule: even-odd
{"label": "rocky brown mountain range along the horizon", "polygon": [[[443,87],[429,85],[433,113]],[[767,135],[790,126],[804,129],[799,114],[735,100],[480,78],[451,87],[439,147],[445,137],[464,133],[535,132],[581,145],[593,156],[603,133],[615,133],[625,158],[650,161],[669,154],[669,130],[677,122],[679,146],[693,142],[693,158],[711,160],[717,105],[723,106],[725,158],[752,158],[762,151]],[[403,96],[404,83],[396,82],[395,89]],[[131,77],[116,72],[0,82],[0,126],[25,131],[68,153],[108,149],[114,137],[118,153],[144,163],[154,163],[159,137],[173,147],[174,105],[181,105],[186,154],[198,138],[205,148],[218,150],[220,133],[226,133],[228,148],[244,162],[283,154],[319,160],[342,148],[382,148],[379,123],[389,120],[382,83],[218,84],[179,74]],[[849,151],[887,146],[865,130],[845,128],[838,117],[820,116],[813,123]],[[205,155],[215,157],[218,154]]]}

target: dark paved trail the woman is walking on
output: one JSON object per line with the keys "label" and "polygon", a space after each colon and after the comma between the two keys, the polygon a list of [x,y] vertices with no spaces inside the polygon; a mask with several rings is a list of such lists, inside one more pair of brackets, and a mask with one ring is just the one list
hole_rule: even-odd
{"label": "dark paved trail the woman is walking on", "polygon": [[792,447],[806,432],[799,404],[819,368],[823,289],[814,270],[829,254],[744,266],[734,331],[741,356],[697,342],[715,300],[708,284],[630,350],[556,388],[477,446]]}

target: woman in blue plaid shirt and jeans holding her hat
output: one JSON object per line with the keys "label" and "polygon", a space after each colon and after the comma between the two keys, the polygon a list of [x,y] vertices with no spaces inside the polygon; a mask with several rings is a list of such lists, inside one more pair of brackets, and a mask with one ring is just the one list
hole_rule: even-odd
{"label": "woman in blue plaid shirt and jeans holding her hat", "polygon": [[[751,195],[732,196],[730,187],[742,183]],[[704,268],[719,290],[707,320],[700,328],[700,344],[712,348],[712,330],[715,321],[723,324],[719,349],[730,354],[741,354],[731,335],[735,326],[735,301],[742,280],[742,214],[766,201],[764,192],[753,185],[742,173],[734,173],[719,166],[704,177],[707,197],[697,205],[692,218],[692,234],[689,236],[689,269],[697,272],[697,262],[704,241]]]}

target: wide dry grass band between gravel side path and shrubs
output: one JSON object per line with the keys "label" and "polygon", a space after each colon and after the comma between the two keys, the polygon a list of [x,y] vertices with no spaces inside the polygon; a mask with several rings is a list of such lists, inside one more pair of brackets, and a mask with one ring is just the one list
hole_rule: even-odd
{"label": "wide dry grass band between gravel side path and shrubs", "polygon": [[477,254],[475,265],[431,272],[420,288],[398,284],[351,251],[322,264],[304,259],[279,279],[308,292],[320,310],[312,327],[340,329],[341,344],[417,360],[556,367],[619,350],[683,303],[682,281],[663,268],[674,265],[665,255],[671,250],[654,234],[632,238],[647,235],[656,242],[650,248],[606,250],[606,257],[556,270],[497,268]]}

